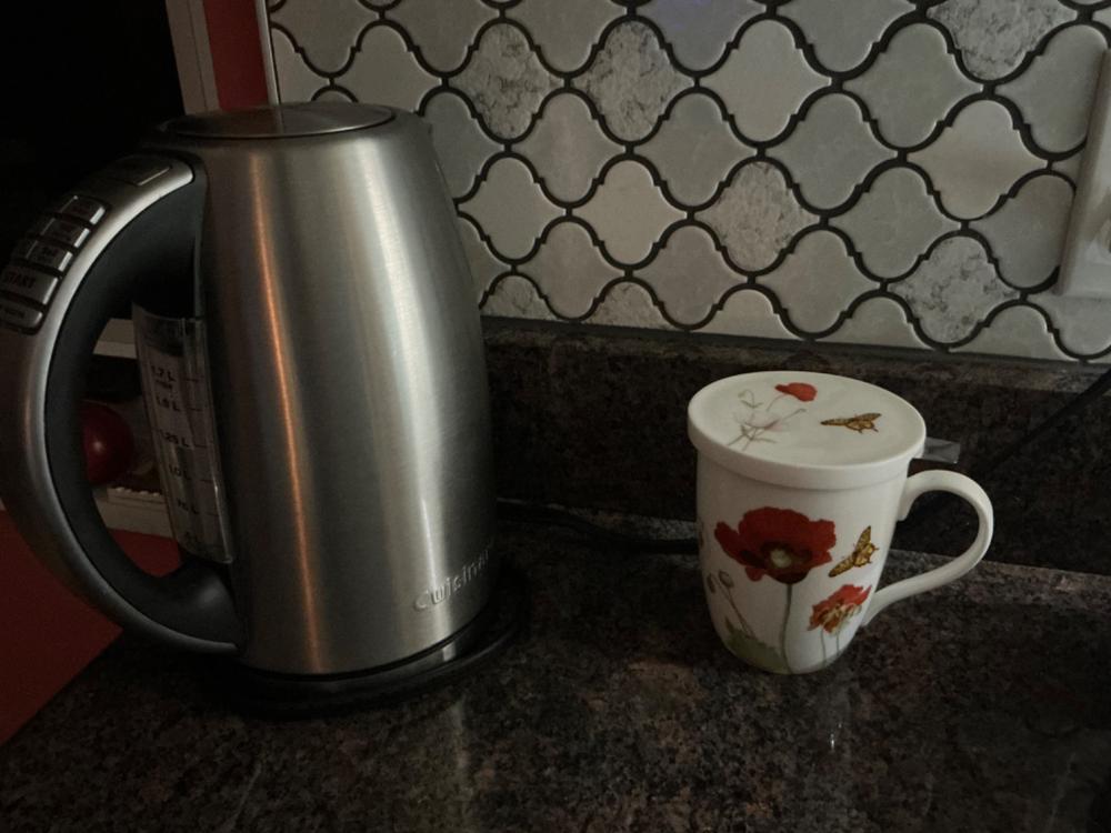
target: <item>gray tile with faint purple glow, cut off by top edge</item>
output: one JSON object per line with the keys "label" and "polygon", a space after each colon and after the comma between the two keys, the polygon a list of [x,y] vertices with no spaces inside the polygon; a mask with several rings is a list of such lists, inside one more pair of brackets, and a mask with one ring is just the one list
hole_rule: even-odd
{"label": "gray tile with faint purple glow, cut off by top edge", "polygon": [[689,69],[709,69],[749,18],[763,7],[753,0],[650,0],[637,10],[663,32],[675,58]]}

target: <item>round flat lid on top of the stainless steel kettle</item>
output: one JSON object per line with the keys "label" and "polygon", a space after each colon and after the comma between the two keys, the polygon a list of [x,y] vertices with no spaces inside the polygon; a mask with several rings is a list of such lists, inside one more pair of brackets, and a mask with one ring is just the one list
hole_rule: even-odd
{"label": "round flat lid on top of the stainless steel kettle", "polygon": [[184,116],[161,130],[196,139],[287,139],[362,130],[392,119],[392,110],[376,104],[310,101]]}

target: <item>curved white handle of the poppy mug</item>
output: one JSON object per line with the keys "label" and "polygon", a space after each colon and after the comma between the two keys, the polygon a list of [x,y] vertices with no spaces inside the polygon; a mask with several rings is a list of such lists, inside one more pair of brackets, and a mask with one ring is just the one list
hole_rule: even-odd
{"label": "curved white handle of the poppy mug", "polygon": [[910,579],[897,581],[875,593],[872,604],[864,614],[861,626],[869,624],[875,614],[887,608],[892,602],[898,602],[907,596],[917,593],[924,593],[927,590],[940,588],[942,584],[961,578],[969,570],[974,568],[983,558],[991,543],[991,533],[994,526],[994,514],[991,511],[991,500],[988,493],[970,478],[951,471],[923,471],[907,479],[903,486],[902,498],[899,499],[899,520],[902,521],[910,512],[911,504],[923,492],[949,492],[959,498],[963,498],[972,504],[980,519],[980,529],[977,530],[975,541],[948,564],[929,570],[921,575],[913,575]]}

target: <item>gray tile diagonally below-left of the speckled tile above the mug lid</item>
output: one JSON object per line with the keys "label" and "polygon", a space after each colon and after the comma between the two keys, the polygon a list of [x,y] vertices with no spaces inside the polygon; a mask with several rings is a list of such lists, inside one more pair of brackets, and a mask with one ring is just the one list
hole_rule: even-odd
{"label": "gray tile diagonally below-left of the speckled tile above the mug lid", "polygon": [[697,225],[672,233],[638,277],[652,287],[668,314],[683,324],[702,321],[725,290],[744,280],[725,263],[709,232]]}

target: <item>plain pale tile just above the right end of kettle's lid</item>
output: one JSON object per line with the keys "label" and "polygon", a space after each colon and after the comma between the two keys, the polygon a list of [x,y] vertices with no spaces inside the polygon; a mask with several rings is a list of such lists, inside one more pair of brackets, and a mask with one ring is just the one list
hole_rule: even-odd
{"label": "plain pale tile just above the right end of kettle's lid", "polygon": [[362,37],[341,81],[359,101],[402,110],[416,110],[424,93],[439,83],[388,26],[376,26]]}

